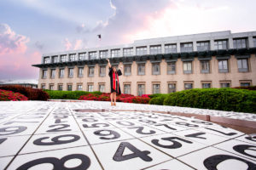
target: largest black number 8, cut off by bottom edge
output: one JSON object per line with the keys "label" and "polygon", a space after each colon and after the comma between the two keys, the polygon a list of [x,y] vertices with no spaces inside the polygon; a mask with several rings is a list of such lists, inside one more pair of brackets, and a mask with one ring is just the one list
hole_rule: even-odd
{"label": "largest black number 8, cut off by bottom edge", "polygon": [[[68,160],[72,159],[79,159],[82,161],[78,167],[65,167],[65,162]],[[44,157],[44,158],[39,158],[33,161],[28,161],[25,164],[21,165],[20,167],[17,168],[17,170],[26,170],[31,167],[44,164],[44,163],[50,163],[54,167],[54,170],[71,170],[71,169],[88,169],[90,167],[90,158],[88,156],[84,156],[82,154],[73,154],[69,156],[64,156],[61,159],[55,158],[55,157]]]}

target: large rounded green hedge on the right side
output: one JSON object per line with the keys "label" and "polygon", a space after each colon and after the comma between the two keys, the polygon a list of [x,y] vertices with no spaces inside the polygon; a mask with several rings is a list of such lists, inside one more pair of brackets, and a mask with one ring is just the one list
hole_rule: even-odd
{"label": "large rounded green hedge on the right side", "polygon": [[164,105],[256,113],[256,92],[235,88],[195,88],[168,94]]}

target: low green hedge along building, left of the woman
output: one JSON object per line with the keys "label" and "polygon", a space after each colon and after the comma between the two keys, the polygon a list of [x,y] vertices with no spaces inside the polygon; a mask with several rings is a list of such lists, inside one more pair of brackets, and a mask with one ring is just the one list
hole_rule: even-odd
{"label": "low green hedge along building, left of the woman", "polygon": [[102,94],[101,92],[85,92],[85,91],[58,91],[44,90],[49,94],[49,99],[79,99],[84,94]]}

